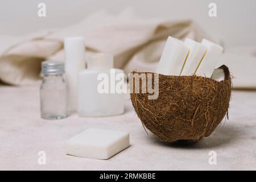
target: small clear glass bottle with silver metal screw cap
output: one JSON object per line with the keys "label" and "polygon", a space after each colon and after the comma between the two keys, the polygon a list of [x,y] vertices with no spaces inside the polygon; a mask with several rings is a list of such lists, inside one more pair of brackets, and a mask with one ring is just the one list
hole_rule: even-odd
{"label": "small clear glass bottle with silver metal screw cap", "polygon": [[68,116],[67,84],[64,62],[43,61],[43,80],[40,86],[41,117],[61,119]]}

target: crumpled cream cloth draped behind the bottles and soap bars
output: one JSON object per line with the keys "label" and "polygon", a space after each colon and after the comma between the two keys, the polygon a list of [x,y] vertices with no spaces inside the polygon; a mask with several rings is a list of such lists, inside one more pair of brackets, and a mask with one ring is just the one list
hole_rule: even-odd
{"label": "crumpled cream cloth draped behind the bottles and soap bars", "polygon": [[154,72],[169,35],[210,39],[192,20],[142,19],[129,10],[119,15],[100,11],[61,30],[5,38],[0,43],[0,79],[13,85],[38,80],[43,60],[64,60],[63,39],[67,36],[84,36],[88,54],[113,53],[114,66],[126,73],[133,69]]}

